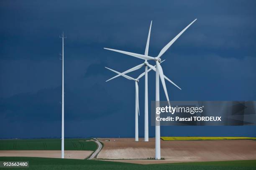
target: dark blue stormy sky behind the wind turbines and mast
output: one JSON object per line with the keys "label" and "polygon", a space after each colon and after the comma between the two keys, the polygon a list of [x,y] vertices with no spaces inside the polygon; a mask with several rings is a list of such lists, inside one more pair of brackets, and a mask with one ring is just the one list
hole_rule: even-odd
{"label": "dark blue stormy sky behind the wind turbines and mast", "polygon": [[[256,100],[256,1],[0,2],[0,138],[61,136],[61,39],[65,40],[66,137],[133,137],[134,82],[118,77],[197,21],[161,57],[170,100]],[[150,62],[153,64],[153,62]],[[136,77],[137,70],[129,75]],[[149,101],[155,74],[149,73]],[[139,83],[144,110],[144,79]],[[160,91],[160,99],[165,100]],[[139,117],[143,137],[144,116]],[[154,127],[149,127],[154,136]],[[256,136],[254,126],[162,127],[162,136]]]}

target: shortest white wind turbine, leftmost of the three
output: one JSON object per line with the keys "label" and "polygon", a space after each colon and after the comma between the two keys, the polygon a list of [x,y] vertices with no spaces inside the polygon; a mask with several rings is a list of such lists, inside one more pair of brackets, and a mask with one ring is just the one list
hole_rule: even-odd
{"label": "shortest white wind turbine, leftmost of the three", "polygon": [[[162,62],[164,62],[164,60],[163,60]],[[111,71],[117,73],[118,76],[121,75],[121,76],[127,78],[128,80],[134,80],[134,81],[135,81],[135,94],[136,94],[136,95],[135,95],[135,141],[138,141],[138,114],[140,115],[140,112],[139,112],[139,97],[138,97],[138,82],[139,82],[139,79],[140,79],[141,77],[143,77],[144,75],[146,75],[146,74],[147,74],[149,71],[151,71],[152,69],[153,69],[154,71],[156,71],[156,68],[155,68],[155,66],[152,66],[152,68],[148,69],[147,72],[141,73],[141,75],[139,75],[136,79],[133,78],[133,77],[130,77],[130,76],[128,76],[128,75],[125,75],[124,73],[120,73],[120,72],[118,72],[118,71],[115,71],[115,70],[113,70],[113,69],[110,69],[110,68],[108,68],[108,67],[105,67],[105,68],[107,68],[108,70],[111,70]],[[168,80],[169,82],[172,82],[172,81],[169,80],[169,78],[166,77],[165,75],[164,75],[164,78],[165,78],[166,80]],[[107,81],[108,81],[108,80],[107,80]]]}

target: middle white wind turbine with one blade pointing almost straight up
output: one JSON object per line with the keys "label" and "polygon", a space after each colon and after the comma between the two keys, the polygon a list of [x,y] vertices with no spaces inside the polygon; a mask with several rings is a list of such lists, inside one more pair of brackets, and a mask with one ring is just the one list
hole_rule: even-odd
{"label": "middle white wind turbine with one blade pointing almost straight up", "polygon": [[[149,40],[150,40],[150,33],[151,33],[151,26],[152,26],[152,21],[150,23],[150,27],[149,27],[149,31],[148,31],[148,40],[147,40],[147,43],[146,43],[146,49],[145,49],[145,55],[148,55],[148,47],[149,47]],[[107,49],[107,48],[105,48]],[[126,74],[128,72],[132,72],[132,71],[135,71],[135,70],[138,70],[140,69],[141,67],[145,66],[145,116],[144,116],[144,141],[148,142],[148,67],[150,67],[152,69],[152,65],[149,65],[149,63],[147,62],[147,60],[145,59],[145,62],[143,62],[142,64],[140,65],[137,65],[129,70],[126,70],[125,72],[122,72],[122,74]],[[156,71],[156,70],[155,70]],[[120,74],[108,79],[107,81],[109,80],[112,80],[116,77],[119,77]],[[170,80],[170,82],[175,85],[176,87],[178,87],[174,82],[172,82]],[[181,88],[178,87],[180,90]]]}

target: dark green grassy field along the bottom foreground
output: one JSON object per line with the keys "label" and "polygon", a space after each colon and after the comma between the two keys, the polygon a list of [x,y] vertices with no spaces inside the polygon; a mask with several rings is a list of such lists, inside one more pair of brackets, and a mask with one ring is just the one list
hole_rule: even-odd
{"label": "dark green grassy field along the bottom foreground", "polygon": [[[255,170],[256,160],[139,165],[100,160],[0,157],[0,161],[29,161],[29,170]],[[17,168],[4,168],[17,170]]]}

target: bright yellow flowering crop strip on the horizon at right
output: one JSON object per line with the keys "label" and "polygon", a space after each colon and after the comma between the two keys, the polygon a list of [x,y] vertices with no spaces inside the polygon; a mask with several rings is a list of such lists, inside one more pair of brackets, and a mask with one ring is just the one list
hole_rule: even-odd
{"label": "bright yellow flowering crop strip on the horizon at right", "polygon": [[161,137],[162,140],[256,140],[250,137]]}

